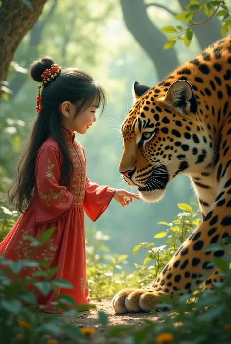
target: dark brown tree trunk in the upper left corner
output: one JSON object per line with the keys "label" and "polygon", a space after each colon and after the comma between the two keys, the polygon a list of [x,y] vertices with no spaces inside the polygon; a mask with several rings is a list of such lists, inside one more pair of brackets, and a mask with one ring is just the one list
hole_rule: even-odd
{"label": "dark brown tree trunk in the upper left corner", "polygon": [[[3,0],[0,7],[0,81],[7,79],[10,62],[26,33],[38,20],[47,0]],[[1,96],[1,90],[0,90]]]}

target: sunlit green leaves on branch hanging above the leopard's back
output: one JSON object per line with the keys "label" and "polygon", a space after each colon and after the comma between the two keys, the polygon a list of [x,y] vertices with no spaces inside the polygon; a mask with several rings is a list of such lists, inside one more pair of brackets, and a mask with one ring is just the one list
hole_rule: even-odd
{"label": "sunlit green leaves on branch hanging above the leopard's back", "polygon": [[[201,22],[196,22],[196,15],[203,11],[208,18]],[[194,25],[202,25],[206,21],[210,20],[213,16],[222,18],[222,36],[226,35],[231,29],[231,6],[228,1],[225,0],[191,0],[186,6],[186,11],[183,11],[176,15],[176,19],[183,21],[187,26],[183,28],[180,25],[165,26],[161,29],[162,32],[171,34],[168,36],[168,41],[164,44],[164,49],[173,48],[177,40],[184,42],[186,47],[189,47],[193,40],[192,27]],[[174,35],[173,35],[174,34]]]}

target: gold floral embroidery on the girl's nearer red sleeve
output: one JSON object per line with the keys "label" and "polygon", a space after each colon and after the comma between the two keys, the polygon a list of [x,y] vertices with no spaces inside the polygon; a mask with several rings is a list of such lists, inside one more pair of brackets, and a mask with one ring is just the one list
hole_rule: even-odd
{"label": "gold floral embroidery on the girl's nearer red sleeve", "polygon": [[[50,182],[53,182],[55,180],[55,177],[53,175],[52,169],[55,167],[54,163],[51,163],[50,159],[48,159],[48,166],[47,166],[47,173],[46,176],[49,178]],[[50,206],[50,201],[51,200],[57,200],[59,199],[59,204],[62,205],[66,199],[64,197],[65,194],[65,190],[62,189],[59,193],[55,192],[54,190],[50,189],[49,194],[44,194],[41,190],[40,190],[40,185],[39,185],[39,178],[37,177],[36,180],[36,185],[37,185],[37,189],[38,189],[38,193],[39,193],[39,197],[45,201],[47,206]]]}

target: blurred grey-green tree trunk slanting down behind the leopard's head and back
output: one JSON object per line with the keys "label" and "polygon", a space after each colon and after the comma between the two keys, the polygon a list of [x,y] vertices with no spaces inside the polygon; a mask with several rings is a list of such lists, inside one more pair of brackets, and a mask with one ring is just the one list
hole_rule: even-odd
{"label": "blurred grey-green tree trunk slanting down behind the leopard's head and back", "polygon": [[120,2],[128,30],[153,61],[159,80],[163,79],[179,64],[175,50],[163,50],[166,36],[149,19],[144,0]]}

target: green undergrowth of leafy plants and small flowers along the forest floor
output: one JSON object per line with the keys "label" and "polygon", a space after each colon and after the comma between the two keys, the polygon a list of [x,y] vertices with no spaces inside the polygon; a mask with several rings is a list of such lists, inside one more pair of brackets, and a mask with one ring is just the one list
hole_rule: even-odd
{"label": "green undergrowth of leafy plants and small flowers along the forest floor", "polygon": [[[179,245],[201,221],[192,206],[179,203],[178,207],[184,212],[179,213],[172,223],[159,222],[159,225],[165,226],[166,229],[154,236],[155,239],[158,237],[167,238],[166,245],[155,247],[154,243],[141,243],[134,248],[135,255],[143,247],[146,257],[142,266],[135,264],[136,270],[130,276],[123,270],[128,256],[112,256],[109,248],[104,244],[105,241],[109,240],[109,237],[95,229],[87,231],[87,272],[91,298],[98,300],[105,297],[111,298],[123,287],[144,286],[157,276]],[[5,225],[10,228],[11,224],[7,222],[10,222],[12,212],[7,208],[2,210],[1,214],[6,215],[3,215]],[[53,229],[47,231],[39,241],[31,239],[32,248],[36,249],[37,246],[42,245],[52,233]],[[225,238],[222,245],[227,241],[230,243],[230,239]],[[221,248],[221,245],[212,244],[207,250],[215,252]],[[168,296],[160,296],[162,307],[167,306],[171,309],[171,313],[158,313],[162,319],[161,322],[152,322],[146,319],[143,326],[139,328],[135,326],[108,328],[100,341],[117,343],[123,339],[126,343],[132,344],[229,344],[231,340],[231,270],[227,269],[227,266],[230,262],[231,256],[226,258],[214,257],[211,264],[222,270],[218,277],[221,276],[223,282],[215,283],[213,290],[200,289],[192,295],[180,296],[177,300],[173,300]],[[151,265],[148,266],[148,263],[151,263]],[[0,264],[8,267],[14,276],[14,279],[10,280],[4,270],[0,271],[1,343],[15,344],[19,343],[20,340],[23,344],[39,344],[42,338],[47,338],[47,336],[58,339],[61,338],[60,336],[66,335],[75,340],[83,337],[84,331],[80,331],[79,328],[71,325],[67,318],[56,319],[52,315],[39,316],[36,310],[37,303],[34,293],[25,289],[25,285],[32,283],[35,288],[39,288],[43,295],[47,295],[50,290],[55,289],[57,286],[71,288],[72,286],[67,281],[51,280],[56,270],[43,269],[37,271],[32,279],[29,281],[24,279],[23,282],[17,275],[21,269],[32,267],[38,269],[41,264],[44,267],[44,263],[35,262],[32,259],[12,262],[1,257]],[[42,272],[42,274],[39,274],[39,272]],[[44,280],[40,281],[39,276],[43,276]],[[124,280],[126,283],[122,282]],[[26,307],[23,302],[27,303]],[[77,311],[80,310],[74,300],[66,294],[59,295],[58,302],[55,305],[57,309],[61,307],[66,310],[64,315],[75,316]],[[69,310],[67,306],[71,306],[73,309]],[[155,312],[151,313],[155,314]],[[98,317],[100,324],[107,326],[107,315],[99,311]],[[94,329],[90,330],[94,334]],[[94,336],[91,340],[92,343],[98,343]]]}

